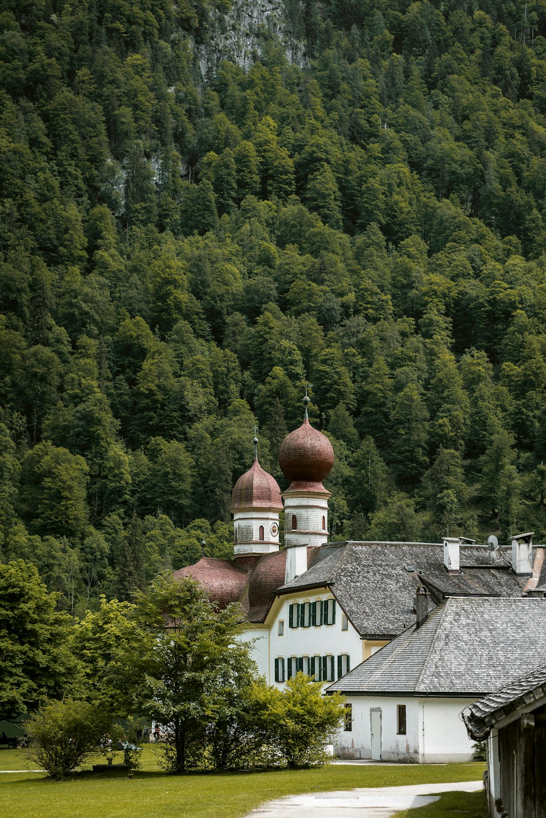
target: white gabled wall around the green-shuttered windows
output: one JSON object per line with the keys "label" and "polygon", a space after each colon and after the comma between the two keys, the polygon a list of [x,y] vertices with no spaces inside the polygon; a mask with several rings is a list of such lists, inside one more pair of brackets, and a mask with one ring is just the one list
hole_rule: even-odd
{"label": "white gabled wall around the green-shuttered windows", "polygon": [[[351,622],[347,631],[342,631],[342,609],[336,603],[336,621],[334,625],[316,627],[289,627],[289,605],[296,602],[318,602],[332,599],[328,592],[307,592],[307,594],[290,595],[283,599],[279,613],[275,616],[270,633],[270,681],[275,684],[275,658],[284,657],[286,663],[290,656],[326,656],[332,654],[334,672],[338,674],[338,654],[349,654],[351,668],[362,661],[362,640]],[[279,620],[284,620],[284,635],[279,636]],[[279,688],[284,687],[277,682]]]}

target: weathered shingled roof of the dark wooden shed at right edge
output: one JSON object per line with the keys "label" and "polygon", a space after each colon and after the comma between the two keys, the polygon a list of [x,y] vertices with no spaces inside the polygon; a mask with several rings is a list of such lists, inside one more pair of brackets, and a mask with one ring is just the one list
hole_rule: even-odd
{"label": "weathered shingled roof of the dark wooden shed at right edge", "polygon": [[[543,602],[544,605],[544,602]],[[546,664],[535,667],[519,676],[500,690],[474,702],[465,717],[467,730],[472,739],[485,739],[492,726],[525,708],[533,709],[535,703],[546,699]]]}

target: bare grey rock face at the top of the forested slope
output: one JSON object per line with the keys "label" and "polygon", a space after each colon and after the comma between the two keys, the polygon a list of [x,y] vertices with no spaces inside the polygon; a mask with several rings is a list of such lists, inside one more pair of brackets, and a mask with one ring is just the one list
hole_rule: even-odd
{"label": "bare grey rock face at the top of the forested slope", "polygon": [[303,66],[307,62],[304,45],[292,30],[284,0],[233,0],[227,14],[213,11],[208,43],[195,47],[201,74],[215,73],[227,59],[248,70],[271,36],[279,38],[290,62]]}

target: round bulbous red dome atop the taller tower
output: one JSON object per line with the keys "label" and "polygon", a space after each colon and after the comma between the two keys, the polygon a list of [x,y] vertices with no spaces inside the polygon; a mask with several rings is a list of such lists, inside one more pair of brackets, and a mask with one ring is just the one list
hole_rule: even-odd
{"label": "round bulbous red dome atop the taller tower", "polygon": [[[333,448],[329,439],[313,429],[307,417],[280,444],[279,465],[292,483],[321,483],[333,466]],[[296,488],[296,487],[293,487]]]}

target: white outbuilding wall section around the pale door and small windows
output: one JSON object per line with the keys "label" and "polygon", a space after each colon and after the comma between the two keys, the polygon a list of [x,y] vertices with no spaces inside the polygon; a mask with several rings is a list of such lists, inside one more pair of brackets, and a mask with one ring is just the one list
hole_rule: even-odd
{"label": "white outbuilding wall section around the pale door and small windows", "polygon": [[[342,758],[371,758],[371,710],[381,709],[381,758],[383,761],[419,761],[418,699],[390,696],[347,696],[352,705],[352,730],[340,730],[333,745]],[[397,735],[397,705],[405,704],[406,733]]]}

